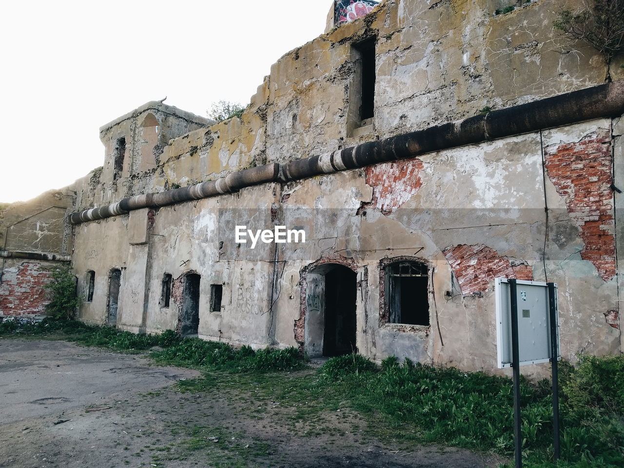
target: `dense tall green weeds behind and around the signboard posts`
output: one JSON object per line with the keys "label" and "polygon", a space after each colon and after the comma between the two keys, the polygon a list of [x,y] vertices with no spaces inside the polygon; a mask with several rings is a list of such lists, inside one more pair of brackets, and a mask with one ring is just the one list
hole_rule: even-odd
{"label": "dense tall green weeds behind and around the signboard posts", "polygon": [[[353,409],[384,426],[425,442],[513,456],[512,381],[412,363],[394,356],[371,368],[361,356],[329,359],[319,385],[344,392]],[[348,365],[346,365],[348,364]],[[371,363],[372,364],[372,363]],[[624,356],[585,357],[562,373],[561,448],[564,467],[620,467],[624,464]],[[523,455],[526,466],[550,467],[552,394],[550,383],[523,379]],[[416,431],[414,431],[416,429]]]}

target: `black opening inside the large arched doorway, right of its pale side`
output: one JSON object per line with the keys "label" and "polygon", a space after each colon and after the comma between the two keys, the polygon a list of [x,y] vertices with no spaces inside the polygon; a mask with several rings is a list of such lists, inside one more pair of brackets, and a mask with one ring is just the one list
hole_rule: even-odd
{"label": "black opening inside the large arched doorway, right of its pale side", "polygon": [[336,265],[325,274],[325,313],[323,356],[357,352],[356,336],[357,275],[346,266]]}

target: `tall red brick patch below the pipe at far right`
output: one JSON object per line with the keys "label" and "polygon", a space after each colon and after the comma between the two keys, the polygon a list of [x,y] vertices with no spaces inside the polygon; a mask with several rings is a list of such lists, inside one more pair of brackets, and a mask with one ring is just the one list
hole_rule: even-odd
{"label": "tall red brick patch below the pipe at far right", "polygon": [[610,130],[598,129],[580,142],[549,145],[544,155],[548,178],[580,228],[581,258],[591,261],[603,280],[610,280],[615,276]]}

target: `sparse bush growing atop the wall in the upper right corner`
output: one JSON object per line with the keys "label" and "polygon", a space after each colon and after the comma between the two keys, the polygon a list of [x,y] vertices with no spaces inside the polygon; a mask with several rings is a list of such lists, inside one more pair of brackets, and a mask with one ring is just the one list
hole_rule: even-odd
{"label": "sparse bush growing atop the wall in the upper right corner", "polygon": [[611,61],[624,49],[624,0],[585,0],[577,11],[563,10],[553,26],[600,52],[607,63],[606,80],[611,81]]}

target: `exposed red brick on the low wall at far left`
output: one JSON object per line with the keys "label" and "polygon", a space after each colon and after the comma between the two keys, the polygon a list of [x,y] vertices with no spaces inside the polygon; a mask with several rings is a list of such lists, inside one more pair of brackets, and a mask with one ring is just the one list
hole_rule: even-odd
{"label": "exposed red brick on the low wall at far left", "polygon": [[43,286],[51,280],[41,263],[24,262],[7,268],[0,284],[0,314],[28,316],[44,314],[49,303]]}

